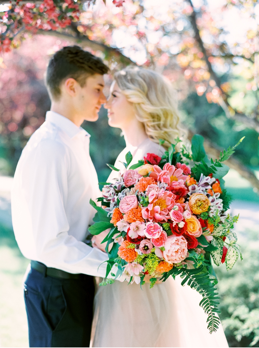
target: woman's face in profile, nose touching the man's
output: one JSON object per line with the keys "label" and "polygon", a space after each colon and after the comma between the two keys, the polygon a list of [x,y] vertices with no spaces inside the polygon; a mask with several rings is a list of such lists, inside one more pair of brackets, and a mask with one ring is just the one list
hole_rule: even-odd
{"label": "woman's face in profile, nose touching the man's", "polygon": [[111,127],[125,129],[136,117],[134,105],[130,103],[116,81],[113,81],[105,109],[108,109],[108,123]]}

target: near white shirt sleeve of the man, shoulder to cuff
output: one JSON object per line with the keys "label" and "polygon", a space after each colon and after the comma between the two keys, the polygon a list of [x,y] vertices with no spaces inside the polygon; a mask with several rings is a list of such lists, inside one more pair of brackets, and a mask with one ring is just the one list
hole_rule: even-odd
{"label": "near white shirt sleeve of the man, shoulder to cuff", "polygon": [[46,140],[21,157],[12,192],[16,240],[25,257],[47,267],[105,277],[108,255],[68,234],[68,151]]}

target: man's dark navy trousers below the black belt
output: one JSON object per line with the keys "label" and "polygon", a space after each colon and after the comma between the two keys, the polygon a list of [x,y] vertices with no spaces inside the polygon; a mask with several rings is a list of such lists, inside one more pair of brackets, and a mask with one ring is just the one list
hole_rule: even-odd
{"label": "man's dark navy trousers below the black belt", "polygon": [[93,297],[92,276],[61,279],[30,269],[24,281],[30,347],[89,347]]}

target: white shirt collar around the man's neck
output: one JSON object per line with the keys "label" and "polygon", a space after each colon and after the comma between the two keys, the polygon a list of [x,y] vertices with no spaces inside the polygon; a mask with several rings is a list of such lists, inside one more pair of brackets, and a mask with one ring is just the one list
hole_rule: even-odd
{"label": "white shirt collar around the man's neck", "polygon": [[91,136],[85,129],[82,127],[77,127],[72,121],[68,118],[60,115],[54,111],[47,111],[46,113],[46,122],[51,122],[55,126],[59,127],[66,133],[70,138],[73,138],[77,134],[83,136]]}

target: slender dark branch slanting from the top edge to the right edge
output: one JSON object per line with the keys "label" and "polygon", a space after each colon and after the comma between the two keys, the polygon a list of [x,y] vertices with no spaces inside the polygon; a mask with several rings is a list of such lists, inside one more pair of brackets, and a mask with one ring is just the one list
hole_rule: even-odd
{"label": "slender dark branch slanting from the top edge to the right edge", "polygon": [[[220,86],[221,85],[220,79],[218,78],[218,76],[216,75],[216,73],[212,69],[211,62],[208,60],[208,55],[207,55],[206,49],[205,49],[203,41],[200,37],[200,32],[199,32],[199,29],[198,29],[197,23],[196,23],[196,12],[195,12],[194,7],[192,5],[192,1],[191,0],[187,0],[187,1],[190,3],[190,5],[192,7],[192,14],[190,15],[190,22],[191,22],[191,25],[192,25],[193,30],[195,32],[195,39],[197,40],[197,42],[200,46],[200,49],[204,55],[204,59],[206,61],[208,71],[210,72],[211,77],[216,82],[216,86],[218,86],[218,88],[221,90],[222,94],[224,94],[224,92]],[[229,112],[229,109],[231,108],[231,106],[229,105],[228,101],[224,100],[223,98],[220,97],[219,103],[220,103],[220,106],[222,107],[222,109],[225,111],[227,118],[241,121],[242,123],[244,123],[246,125],[246,127],[253,128],[259,133],[259,121],[256,118],[249,118],[245,114],[237,113],[235,110],[234,110],[235,115],[231,116],[230,112]],[[233,108],[231,108],[231,109],[233,110]]]}

